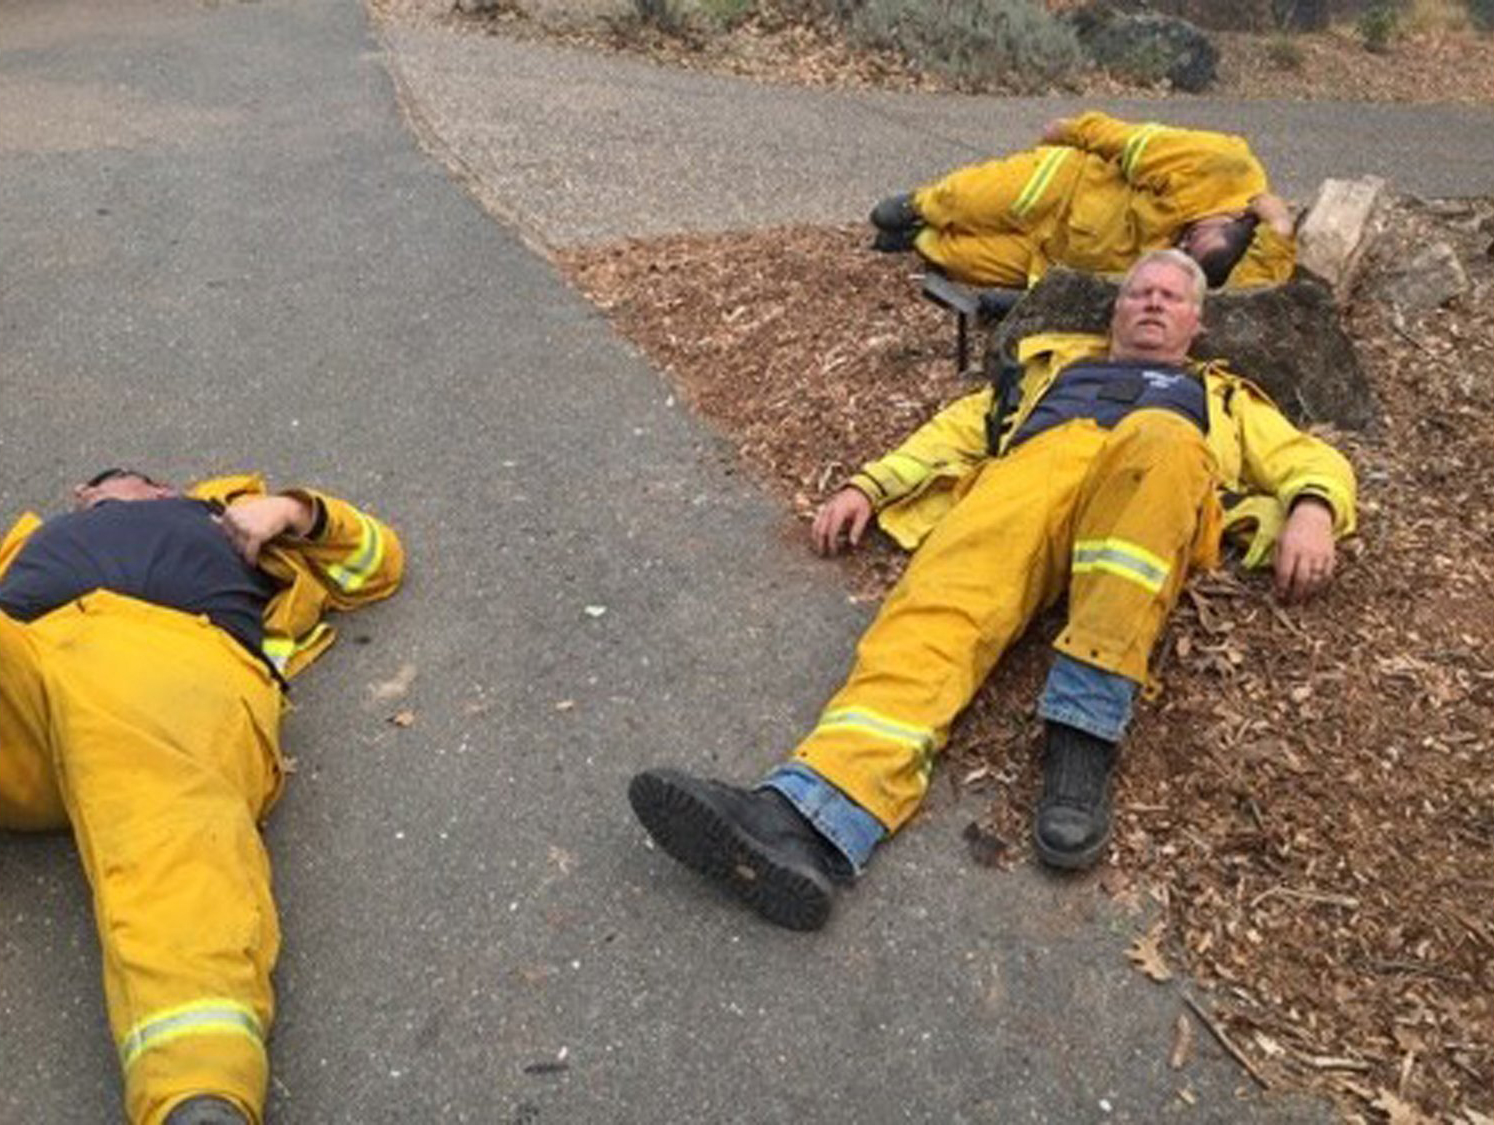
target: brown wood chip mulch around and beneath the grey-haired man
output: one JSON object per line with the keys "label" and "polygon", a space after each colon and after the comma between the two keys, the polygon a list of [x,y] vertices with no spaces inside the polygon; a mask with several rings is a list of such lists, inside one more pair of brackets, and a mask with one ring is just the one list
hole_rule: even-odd
{"label": "brown wood chip mulch around and beneath the grey-haired man", "polygon": [[[1346,326],[1382,406],[1352,457],[1361,530],[1327,596],[1197,577],[1126,744],[1115,847],[1086,880],[1161,917],[1144,961],[1207,992],[1261,1080],[1327,1089],[1351,1121],[1494,1119],[1494,200],[1401,202]],[[1382,264],[1428,238],[1472,288],[1401,315]],[[560,255],[743,462],[801,517],[973,388],[947,314],[862,230],[680,236]],[[901,568],[846,563],[856,596]],[[974,861],[1028,862],[1034,701],[1058,620],[1002,662],[949,747],[989,804]]]}

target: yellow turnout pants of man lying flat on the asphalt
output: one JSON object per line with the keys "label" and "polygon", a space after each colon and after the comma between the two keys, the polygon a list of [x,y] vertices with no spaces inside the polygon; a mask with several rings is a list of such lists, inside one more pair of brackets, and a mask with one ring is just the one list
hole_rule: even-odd
{"label": "yellow turnout pants of man lying flat on the asphalt", "polygon": [[72,825],[131,1122],[199,1092],[263,1115],[281,708],[206,619],[108,592],[0,614],[0,828]]}

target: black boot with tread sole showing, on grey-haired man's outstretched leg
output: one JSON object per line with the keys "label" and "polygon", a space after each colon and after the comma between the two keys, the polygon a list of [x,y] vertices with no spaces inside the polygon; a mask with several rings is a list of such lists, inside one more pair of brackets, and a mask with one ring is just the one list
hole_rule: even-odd
{"label": "black boot with tread sole showing, on grey-haired man's outstretched leg", "polygon": [[659,847],[774,925],[819,929],[832,881],[850,878],[844,856],[771,789],[645,769],[627,784],[627,801]]}

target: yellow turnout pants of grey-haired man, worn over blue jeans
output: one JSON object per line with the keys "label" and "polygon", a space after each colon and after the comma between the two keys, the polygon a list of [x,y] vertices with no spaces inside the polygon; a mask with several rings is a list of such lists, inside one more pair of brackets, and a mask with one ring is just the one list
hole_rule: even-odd
{"label": "yellow turnout pants of grey-haired man, worn over blue jeans", "polygon": [[1070,421],[988,462],[913,556],[793,756],[896,831],[955,717],[1065,589],[1056,647],[1144,681],[1189,562],[1218,538],[1213,480],[1198,427],[1161,409],[1113,430]]}

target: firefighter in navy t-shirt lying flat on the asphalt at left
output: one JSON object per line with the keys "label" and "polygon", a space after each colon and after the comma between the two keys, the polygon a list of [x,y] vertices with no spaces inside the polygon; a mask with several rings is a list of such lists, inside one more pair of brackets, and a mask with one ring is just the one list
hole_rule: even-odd
{"label": "firefighter in navy t-shirt lying flat on the asphalt at left", "polygon": [[260,1122],[284,681],[403,553],[344,500],[111,469],[0,542],[0,829],[72,828],[137,1125]]}

